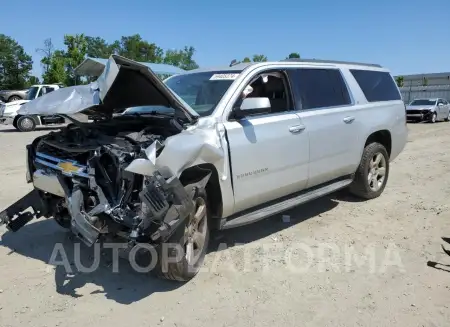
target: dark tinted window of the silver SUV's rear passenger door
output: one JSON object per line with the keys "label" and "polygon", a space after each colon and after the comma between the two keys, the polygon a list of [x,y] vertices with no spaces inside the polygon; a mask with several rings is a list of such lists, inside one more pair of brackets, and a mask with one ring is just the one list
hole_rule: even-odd
{"label": "dark tinted window of the silver SUV's rear passenger door", "polygon": [[351,104],[345,81],[338,69],[300,68],[293,71],[296,94],[302,109],[316,109]]}

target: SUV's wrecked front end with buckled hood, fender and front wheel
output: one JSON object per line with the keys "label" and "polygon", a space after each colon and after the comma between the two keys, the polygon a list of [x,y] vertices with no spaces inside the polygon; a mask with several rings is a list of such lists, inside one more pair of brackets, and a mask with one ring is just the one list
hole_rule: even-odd
{"label": "SUV's wrecked front end with buckled hood, fender and front wheel", "polygon": [[[116,116],[135,106],[173,113]],[[71,119],[27,146],[27,181],[34,189],[1,212],[0,223],[17,231],[33,218],[53,217],[88,246],[110,237],[129,248],[175,240],[183,260],[160,275],[187,280],[196,274],[209,237],[204,190],[211,171],[197,166],[183,182],[180,174],[196,163],[223,162],[214,123],[199,127],[197,112],[151,70],[119,56],[92,85],[52,92],[21,110],[97,118]]]}

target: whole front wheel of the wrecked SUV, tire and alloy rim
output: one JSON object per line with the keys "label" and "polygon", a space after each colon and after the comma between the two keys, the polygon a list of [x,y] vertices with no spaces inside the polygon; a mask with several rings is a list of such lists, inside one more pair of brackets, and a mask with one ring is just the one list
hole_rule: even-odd
{"label": "whole front wheel of the wrecked SUV, tire and alloy rim", "polygon": [[[162,251],[162,247],[164,246],[164,244],[162,244],[162,247],[160,247],[160,250],[158,251],[158,265],[155,269],[155,272],[159,278],[186,282],[197,275],[203,264],[206,256],[206,251],[208,249],[210,233],[210,213],[206,192],[204,190],[198,191],[198,194],[194,198],[194,205],[194,212],[188,218],[186,218],[186,223],[181,225],[166,243],[166,246],[167,244],[176,244],[177,246],[181,246],[181,248],[183,249],[181,260],[179,260],[178,262],[169,262],[171,260],[167,260],[168,256],[165,255],[164,251]],[[195,217],[197,217],[197,219],[200,217],[199,223],[198,225],[196,225],[196,230],[202,235],[203,240],[201,247],[197,244],[197,252],[195,252],[194,249],[195,241],[192,241],[191,249],[193,249],[194,252],[190,252],[193,254],[193,257],[191,257],[192,261],[189,262],[187,259],[187,244],[190,244],[189,240],[193,239],[192,237],[189,237],[189,234],[192,231],[192,227],[195,225],[192,223]],[[186,239],[188,239],[187,242],[185,242]],[[165,252],[170,252],[170,256],[173,260],[173,258],[176,258],[175,255],[177,253],[175,253],[176,251],[171,251],[171,249],[174,249],[174,247],[169,247],[168,249],[169,250]],[[178,253],[178,255],[180,254]]]}

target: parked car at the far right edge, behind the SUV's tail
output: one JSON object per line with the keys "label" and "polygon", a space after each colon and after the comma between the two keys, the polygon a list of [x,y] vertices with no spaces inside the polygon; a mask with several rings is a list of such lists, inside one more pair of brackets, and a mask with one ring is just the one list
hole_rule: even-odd
{"label": "parked car at the far right edge, behind the SUV's tail", "polygon": [[449,121],[450,104],[445,99],[414,99],[406,107],[408,120],[435,123],[438,120]]}

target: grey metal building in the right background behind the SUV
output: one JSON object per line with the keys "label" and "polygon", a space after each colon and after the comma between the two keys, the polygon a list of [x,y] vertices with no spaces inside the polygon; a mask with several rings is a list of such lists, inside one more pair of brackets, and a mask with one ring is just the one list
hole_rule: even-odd
{"label": "grey metal building in the right background behind the SUV", "polygon": [[450,72],[403,75],[400,92],[405,103],[417,98],[444,98],[450,101]]}

